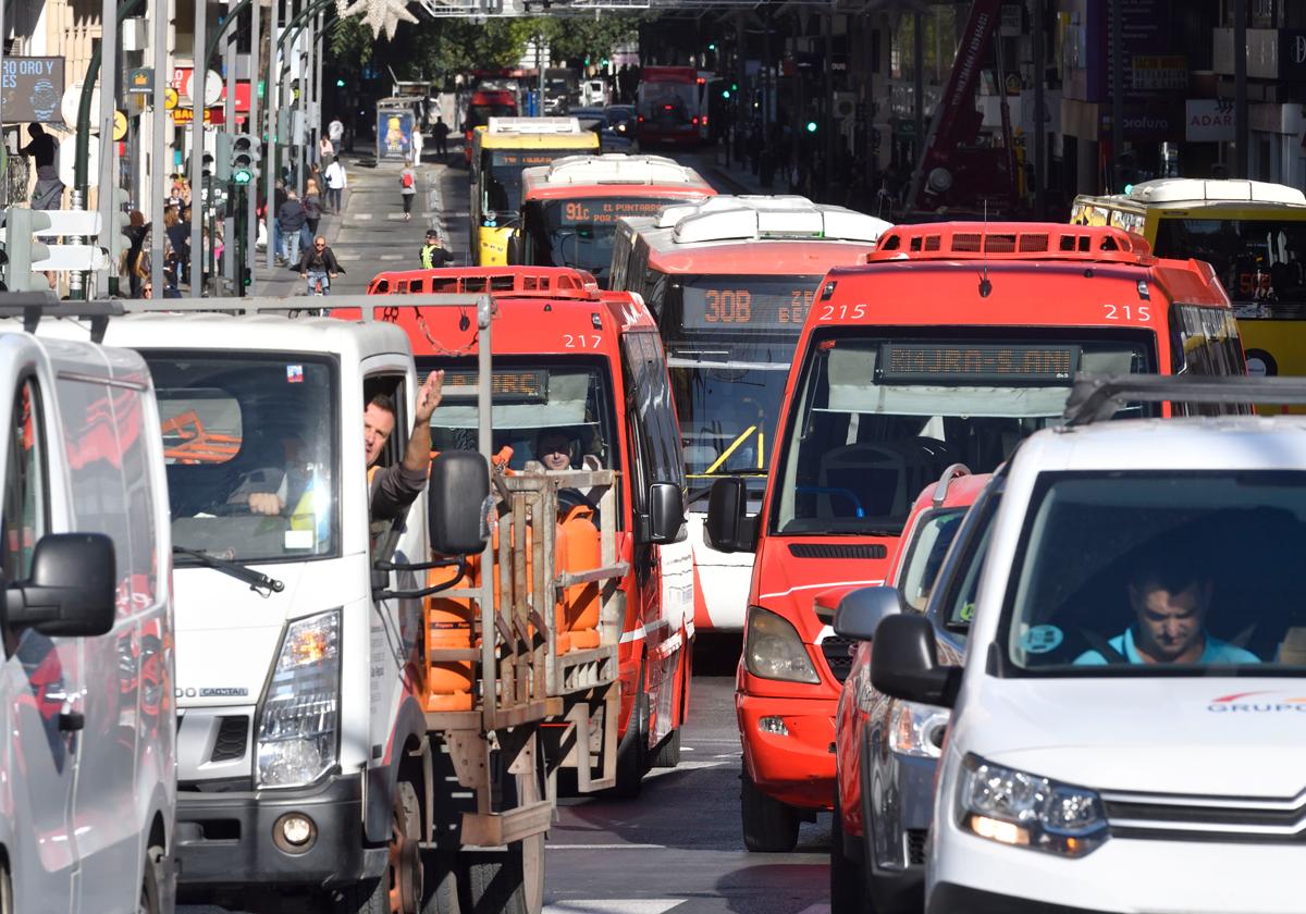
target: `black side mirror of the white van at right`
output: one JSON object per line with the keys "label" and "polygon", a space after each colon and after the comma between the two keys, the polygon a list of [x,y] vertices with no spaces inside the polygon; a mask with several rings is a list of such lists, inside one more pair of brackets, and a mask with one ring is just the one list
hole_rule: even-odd
{"label": "black side mirror of the white van at right", "polygon": [[889,615],[871,641],[871,685],[895,699],[951,708],[961,687],[961,667],[939,665],[929,619]]}

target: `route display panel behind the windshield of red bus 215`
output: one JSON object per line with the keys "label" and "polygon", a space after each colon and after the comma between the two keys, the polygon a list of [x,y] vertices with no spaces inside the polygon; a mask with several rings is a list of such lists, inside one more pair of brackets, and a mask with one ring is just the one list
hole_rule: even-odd
{"label": "route display panel behind the windshield of red bus 215", "polygon": [[884,384],[1070,384],[1079,346],[993,343],[884,343],[875,380]]}

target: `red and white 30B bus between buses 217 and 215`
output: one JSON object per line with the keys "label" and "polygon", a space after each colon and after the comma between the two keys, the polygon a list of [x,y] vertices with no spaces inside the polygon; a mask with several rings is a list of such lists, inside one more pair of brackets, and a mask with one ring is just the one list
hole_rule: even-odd
{"label": "red and white 30B bus between buses 217 and 215", "polygon": [[820,278],[857,264],[888,222],[804,197],[710,197],[656,219],[622,219],[611,287],[644,296],[666,343],[686,473],[690,538],[700,573],[695,620],[743,629],[752,556],[703,543],[712,479],[767,479],[785,375]]}

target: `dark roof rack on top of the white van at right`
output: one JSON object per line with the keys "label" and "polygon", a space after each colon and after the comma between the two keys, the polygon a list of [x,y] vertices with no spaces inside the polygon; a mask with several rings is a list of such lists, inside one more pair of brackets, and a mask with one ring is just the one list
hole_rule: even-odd
{"label": "dark roof rack on top of the white van at right", "polygon": [[1067,426],[1104,422],[1130,402],[1250,406],[1306,405],[1306,377],[1246,375],[1076,375],[1066,411]]}

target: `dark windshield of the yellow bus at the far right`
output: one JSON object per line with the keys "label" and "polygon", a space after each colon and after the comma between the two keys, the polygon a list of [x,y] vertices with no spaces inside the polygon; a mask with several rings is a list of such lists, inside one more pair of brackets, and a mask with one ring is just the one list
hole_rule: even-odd
{"label": "dark windshield of the yellow bus at the far right", "polygon": [[1306,303],[1306,221],[1162,218],[1155,252],[1207,261],[1234,302]]}

